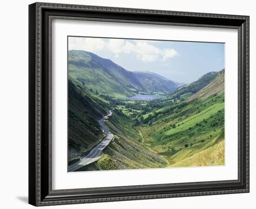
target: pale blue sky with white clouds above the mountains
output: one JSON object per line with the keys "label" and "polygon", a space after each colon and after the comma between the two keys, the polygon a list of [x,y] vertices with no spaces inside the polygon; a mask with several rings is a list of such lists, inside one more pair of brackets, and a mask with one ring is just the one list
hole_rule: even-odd
{"label": "pale blue sky with white clouds above the mountains", "polygon": [[128,71],[157,73],[191,83],[224,68],[224,44],[206,42],[68,37],[68,50],[84,50],[111,59]]}

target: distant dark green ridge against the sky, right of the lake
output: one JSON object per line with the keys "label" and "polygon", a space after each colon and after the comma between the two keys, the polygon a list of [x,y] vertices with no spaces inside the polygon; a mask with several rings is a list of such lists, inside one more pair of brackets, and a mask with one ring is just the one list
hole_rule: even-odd
{"label": "distant dark green ridge against the sky, right of the lake", "polygon": [[179,88],[177,88],[175,91],[172,92],[172,95],[179,97],[186,93],[195,94],[197,91],[201,90],[204,86],[208,85],[209,82],[212,81],[217,76],[217,74],[218,72],[208,72],[198,80],[190,84],[180,86]]}

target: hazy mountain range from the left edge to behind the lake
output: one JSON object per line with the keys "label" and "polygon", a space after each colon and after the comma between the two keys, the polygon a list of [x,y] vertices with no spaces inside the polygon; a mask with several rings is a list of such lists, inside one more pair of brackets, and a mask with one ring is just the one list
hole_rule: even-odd
{"label": "hazy mountain range from the left edge to behind the lake", "polygon": [[151,72],[130,72],[92,52],[68,51],[68,77],[80,86],[114,97],[170,92],[178,83]]}

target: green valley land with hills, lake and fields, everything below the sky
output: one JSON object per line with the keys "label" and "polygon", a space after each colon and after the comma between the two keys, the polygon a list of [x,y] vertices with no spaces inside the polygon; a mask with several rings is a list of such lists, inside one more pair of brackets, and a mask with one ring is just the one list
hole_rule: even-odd
{"label": "green valley land with hills, lake and fields, everything below the sky", "polygon": [[[224,69],[179,85],[91,52],[68,58],[70,171],[224,164]],[[88,160],[108,134],[101,155]]]}

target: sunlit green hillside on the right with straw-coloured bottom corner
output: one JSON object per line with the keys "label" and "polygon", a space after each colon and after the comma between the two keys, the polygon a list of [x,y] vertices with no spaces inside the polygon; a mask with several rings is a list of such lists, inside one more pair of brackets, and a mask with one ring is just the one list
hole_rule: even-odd
{"label": "sunlit green hillside on the right with straw-coloured bottom corner", "polygon": [[223,164],[224,70],[185,101],[168,105],[168,99],[162,99],[163,108],[138,118],[144,144],[165,156],[170,167]]}

